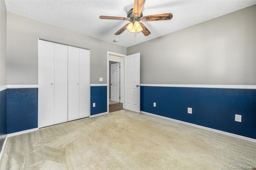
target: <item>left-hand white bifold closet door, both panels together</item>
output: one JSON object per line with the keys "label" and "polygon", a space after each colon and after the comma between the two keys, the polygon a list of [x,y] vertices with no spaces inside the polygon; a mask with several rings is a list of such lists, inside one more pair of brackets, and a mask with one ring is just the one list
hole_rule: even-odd
{"label": "left-hand white bifold closet door, both panels together", "polygon": [[68,121],[68,46],[38,40],[38,127]]}

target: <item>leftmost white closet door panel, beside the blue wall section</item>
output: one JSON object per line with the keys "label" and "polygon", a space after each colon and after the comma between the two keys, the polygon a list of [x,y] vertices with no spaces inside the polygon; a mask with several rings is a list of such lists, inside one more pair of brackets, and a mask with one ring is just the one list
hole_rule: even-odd
{"label": "leftmost white closet door panel, beside the blue wall section", "polygon": [[54,43],[38,40],[38,127],[54,125]]}

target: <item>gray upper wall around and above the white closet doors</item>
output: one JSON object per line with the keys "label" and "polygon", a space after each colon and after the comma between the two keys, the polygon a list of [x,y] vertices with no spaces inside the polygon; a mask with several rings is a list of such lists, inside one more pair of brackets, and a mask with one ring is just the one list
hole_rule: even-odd
{"label": "gray upper wall around and above the white closet doors", "polygon": [[38,84],[38,38],[91,49],[92,84],[107,83],[107,51],[126,55],[126,47],[7,12],[8,85]]}

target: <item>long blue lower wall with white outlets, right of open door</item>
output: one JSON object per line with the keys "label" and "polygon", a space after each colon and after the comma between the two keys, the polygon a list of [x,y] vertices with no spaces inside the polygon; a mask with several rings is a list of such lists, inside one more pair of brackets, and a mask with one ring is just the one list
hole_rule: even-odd
{"label": "long blue lower wall with white outlets, right of open door", "polygon": [[[255,89],[141,86],[140,90],[141,111],[256,139]],[[235,114],[242,115],[241,123],[234,121]]]}

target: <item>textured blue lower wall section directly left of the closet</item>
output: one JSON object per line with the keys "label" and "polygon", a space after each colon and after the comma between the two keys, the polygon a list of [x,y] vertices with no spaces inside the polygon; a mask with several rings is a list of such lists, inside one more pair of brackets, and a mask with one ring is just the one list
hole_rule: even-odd
{"label": "textured blue lower wall section directly left of the closet", "polygon": [[38,127],[38,88],[7,89],[7,133]]}

